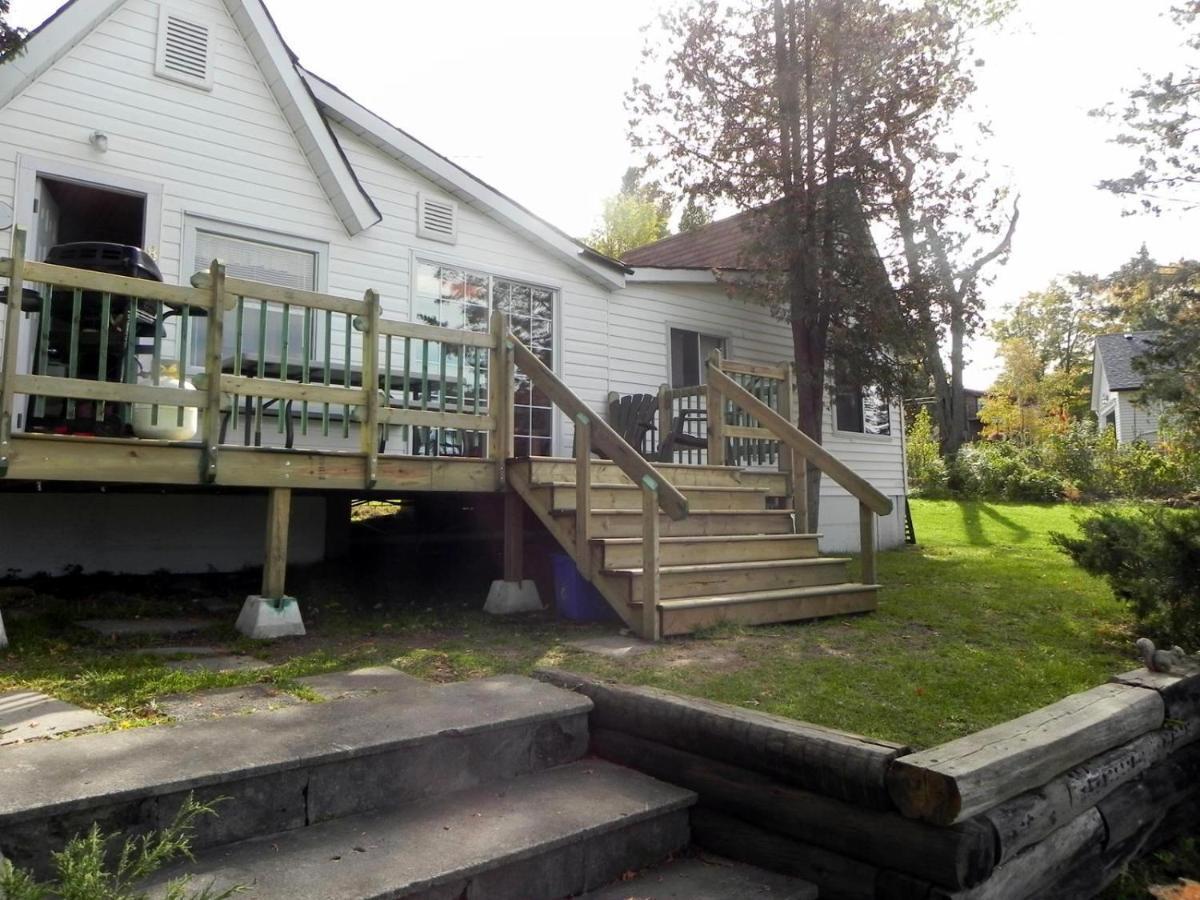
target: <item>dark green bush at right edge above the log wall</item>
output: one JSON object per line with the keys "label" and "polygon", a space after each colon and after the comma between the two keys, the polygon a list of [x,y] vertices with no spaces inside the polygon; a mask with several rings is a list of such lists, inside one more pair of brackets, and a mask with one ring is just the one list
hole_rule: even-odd
{"label": "dark green bush at right edge above the log wall", "polygon": [[1051,540],[1133,605],[1142,634],[1200,648],[1200,510],[1103,510]]}

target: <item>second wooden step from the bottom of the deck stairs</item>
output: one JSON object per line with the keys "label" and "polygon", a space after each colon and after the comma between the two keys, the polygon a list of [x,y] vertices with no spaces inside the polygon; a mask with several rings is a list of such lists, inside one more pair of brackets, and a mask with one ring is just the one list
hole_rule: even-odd
{"label": "second wooden step from the bottom of the deck stairs", "polygon": [[[659,568],[659,596],[677,600],[712,594],[744,594],[846,582],[848,559],[816,557],[812,559],[764,559],[751,563],[706,563],[702,565],[664,565]],[[642,569],[607,569],[629,586],[630,600],[643,595]]]}

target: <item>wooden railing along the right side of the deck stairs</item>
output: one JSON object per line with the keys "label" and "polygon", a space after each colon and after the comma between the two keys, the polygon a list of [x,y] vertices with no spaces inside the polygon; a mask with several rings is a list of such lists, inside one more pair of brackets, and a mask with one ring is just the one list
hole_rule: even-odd
{"label": "wooden railing along the right side of the deck stairs", "polygon": [[[722,361],[720,350],[714,350],[708,359],[708,462],[714,466],[726,464],[727,439],[758,444],[778,443],[781,449],[780,468],[791,475],[792,508],[796,510],[798,529],[803,529],[809,520],[808,468],[809,466],[818,468],[858,500],[862,580],[866,584],[875,583],[875,517],[889,515],[892,500],[821,444],[792,425],[793,389],[790,371],[786,372],[780,384],[780,408],[776,410],[728,374],[731,371],[740,374],[756,374],[748,372],[750,368],[746,365]],[[754,368],[766,367],[756,366]],[[732,407],[732,409],[727,407]],[[739,416],[734,421],[745,421],[745,424],[730,425],[728,421],[733,416]]]}

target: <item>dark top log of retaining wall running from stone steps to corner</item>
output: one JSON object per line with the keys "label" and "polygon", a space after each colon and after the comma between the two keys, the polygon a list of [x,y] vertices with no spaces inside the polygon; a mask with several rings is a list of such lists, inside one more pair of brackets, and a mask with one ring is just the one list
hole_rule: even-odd
{"label": "dark top log of retaining wall running from stone steps to corner", "polygon": [[884,773],[905,752],[899,744],[559,670],[535,677],[589,697],[594,727],[701,752],[847,803],[890,806]]}

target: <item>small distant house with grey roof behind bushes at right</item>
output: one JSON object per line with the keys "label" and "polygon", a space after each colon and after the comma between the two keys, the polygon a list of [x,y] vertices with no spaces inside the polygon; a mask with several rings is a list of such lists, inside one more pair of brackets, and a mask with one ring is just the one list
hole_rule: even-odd
{"label": "small distant house with grey roof behind bushes at right", "polygon": [[1100,335],[1096,338],[1092,368],[1092,412],[1100,428],[1116,431],[1117,442],[1158,439],[1158,418],[1163,406],[1144,402],[1144,377],[1134,360],[1146,353],[1157,331]]}

